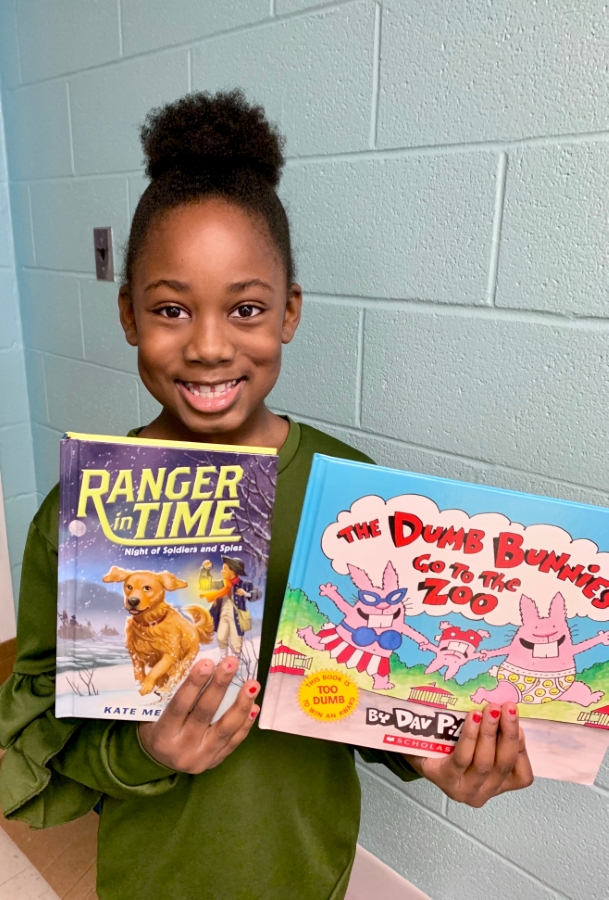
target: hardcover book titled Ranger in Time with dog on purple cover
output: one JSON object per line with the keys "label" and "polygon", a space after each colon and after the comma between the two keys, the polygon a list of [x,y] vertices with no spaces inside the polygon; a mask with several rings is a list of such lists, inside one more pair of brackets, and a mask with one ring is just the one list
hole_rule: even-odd
{"label": "hardcover book titled Ranger in Time with dog on purple cover", "polygon": [[60,459],[56,715],[154,720],[232,654],[226,708],[258,667],[275,451],[68,434]]}

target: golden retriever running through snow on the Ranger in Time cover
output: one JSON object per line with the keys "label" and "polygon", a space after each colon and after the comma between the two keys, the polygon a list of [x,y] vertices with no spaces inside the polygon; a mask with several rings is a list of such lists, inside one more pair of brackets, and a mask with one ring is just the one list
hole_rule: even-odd
{"label": "golden retriever running through snow on the Ranger in Time cover", "polygon": [[[214,625],[202,606],[186,606],[187,619],[165,599],[188,586],[171,572],[129,572],[112,566],[102,581],[123,582],[127,650],[140,694],[167,694],[188,673],[200,644],[213,640]],[[148,668],[148,671],[146,671]]]}

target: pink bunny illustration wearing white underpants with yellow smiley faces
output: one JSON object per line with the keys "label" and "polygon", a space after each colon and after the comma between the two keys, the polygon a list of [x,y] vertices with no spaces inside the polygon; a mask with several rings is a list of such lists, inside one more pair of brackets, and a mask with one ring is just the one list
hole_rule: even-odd
{"label": "pink bunny illustration wearing white underpants with yellow smiley faces", "polygon": [[497,670],[497,687],[478,688],[472,695],[474,703],[549,703],[565,700],[590,706],[598,702],[603,691],[592,691],[587,684],[576,681],[575,654],[609,645],[609,631],[599,631],[596,637],[574,644],[567,623],[565,598],[558,593],[552,599],[550,612],[540,616],[534,600],[524,594],[520,598],[522,625],[511,644],[495,650],[482,650],[482,659],[504,656]]}

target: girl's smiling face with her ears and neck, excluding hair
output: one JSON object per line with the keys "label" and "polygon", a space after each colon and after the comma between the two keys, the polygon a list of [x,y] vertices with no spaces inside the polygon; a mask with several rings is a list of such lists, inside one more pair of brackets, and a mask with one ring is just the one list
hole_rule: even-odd
{"label": "girl's smiling face with her ears and neck, excluding hair", "polygon": [[[287,297],[286,297],[287,294]],[[281,345],[300,319],[301,290],[264,225],[205,200],[153,224],[121,322],[142,381],[163,406],[153,436],[253,443],[276,419],[264,406]]]}

